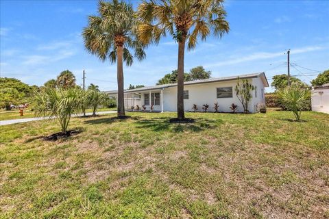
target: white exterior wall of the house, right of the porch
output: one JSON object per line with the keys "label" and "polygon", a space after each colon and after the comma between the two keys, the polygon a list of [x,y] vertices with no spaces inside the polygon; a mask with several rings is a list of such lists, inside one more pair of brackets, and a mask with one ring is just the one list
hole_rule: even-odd
{"label": "white exterior wall of the house, right of the porch", "polygon": [[[257,98],[253,91],[252,101],[249,103],[249,112],[256,112],[257,103],[265,103],[265,97],[261,95],[260,90],[264,85],[263,81],[258,78],[249,79],[254,86],[257,86]],[[197,105],[198,111],[202,112],[202,105],[208,104],[209,112],[213,112],[214,103],[219,104],[219,112],[231,112],[230,105],[232,103],[238,105],[237,112],[243,112],[243,106],[234,92],[234,86],[236,81],[219,81],[212,83],[199,83],[192,85],[185,85],[184,90],[188,90],[188,99],[184,99],[184,110],[193,111],[193,104]],[[230,98],[218,98],[217,99],[217,88],[232,87],[233,97]],[[164,88],[164,111],[176,111],[177,110],[177,87]],[[263,94],[264,95],[264,94]]]}

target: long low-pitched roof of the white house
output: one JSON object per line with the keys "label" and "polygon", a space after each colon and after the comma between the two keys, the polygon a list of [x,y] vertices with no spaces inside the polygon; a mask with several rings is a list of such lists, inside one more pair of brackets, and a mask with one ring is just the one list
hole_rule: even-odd
{"label": "long low-pitched roof of the white house", "polygon": [[[212,82],[219,82],[219,81],[232,81],[238,79],[250,79],[254,77],[260,77],[265,85],[265,87],[269,86],[269,82],[267,81],[267,78],[265,76],[265,73],[252,73],[247,75],[234,75],[234,76],[228,76],[228,77],[211,77],[209,79],[203,79],[203,80],[196,80],[196,81],[185,81],[184,86],[192,85],[192,84],[198,84],[198,83],[212,83]],[[147,86],[143,88],[136,88],[132,90],[125,90],[125,92],[141,92],[145,90],[161,90],[163,88],[169,88],[169,87],[175,87],[177,86],[177,83],[167,83],[167,84],[161,84],[156,86]],[[110,90],[105,91],[108,94],[116,94],[117,90]]]}

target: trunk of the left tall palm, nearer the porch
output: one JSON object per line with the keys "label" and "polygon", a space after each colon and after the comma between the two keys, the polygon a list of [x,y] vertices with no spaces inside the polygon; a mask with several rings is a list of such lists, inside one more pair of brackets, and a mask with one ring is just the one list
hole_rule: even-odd
{"label": "trunk of the left tall palm, nearer the porch", "polygon": [[117,47],[117,78],[118,78],[118,117],[125,116],[125,99],[123,94],[123,46]]}

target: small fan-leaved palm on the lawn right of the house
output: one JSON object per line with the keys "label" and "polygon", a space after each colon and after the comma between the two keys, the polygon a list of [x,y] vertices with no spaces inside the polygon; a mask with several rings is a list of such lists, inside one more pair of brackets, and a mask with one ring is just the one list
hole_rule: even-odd
{"label": "small fan-leaved palm on the lawn right of the house", "polygon": [[303,88],[297,83],[293,83],[287,88],[278,91],[280,103],[287,110],[293,112],[295,119],[300,121],[302,110],[308,110],[310,101],[310,90]]}

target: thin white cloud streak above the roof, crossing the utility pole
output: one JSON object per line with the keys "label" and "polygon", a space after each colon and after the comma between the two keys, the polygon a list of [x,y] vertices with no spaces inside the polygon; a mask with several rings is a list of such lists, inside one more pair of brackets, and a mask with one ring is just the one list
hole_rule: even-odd
{"label": "thin white cloud streak above the roof, crossing the utility pole", "polygon": [[[307,53],[310,51],[318,51],[322,49],[327,49],[326,47],[319,47],[319,46],[313,46],[313,47],[303,47],[299,49],[291,49],[291,52],[293,54],[299,54],[299,53]],[[258,53],[252,53],[250,55],[245,55],[242,57],[233,57],[230,60],[225,60],[221,62],[216,62],[213,64],[206,64],[205,66],[207,68],[214,67],[214,66],[226,66],[230,64],[238,64],[241,62],[248,62],[248,61],[254,61],[254,60],[266,60],[273,57],[280,57],[281,55],[284,55],[284,52],[275,52],[275,53],[267,53],[267,52],[258,52]]]}

